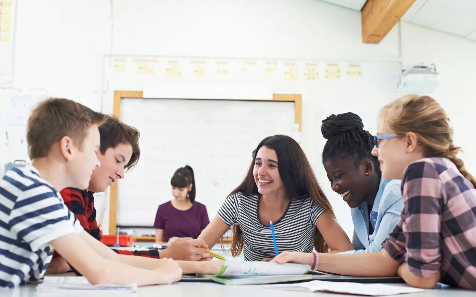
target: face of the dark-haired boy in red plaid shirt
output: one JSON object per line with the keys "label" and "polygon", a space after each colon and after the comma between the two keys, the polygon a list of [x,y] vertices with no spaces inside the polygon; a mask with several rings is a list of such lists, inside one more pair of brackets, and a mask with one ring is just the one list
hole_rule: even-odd
{"label": "face of the dark-haired boy in red plaid shirt", "polygon": [[129,163],[131,156],[132,147],[129,143],[108,148],[104,155],[99,151],[101,167],[93,172],[88,190],[95,193],[104,192],[116,179],[124,178],[124,166]]}

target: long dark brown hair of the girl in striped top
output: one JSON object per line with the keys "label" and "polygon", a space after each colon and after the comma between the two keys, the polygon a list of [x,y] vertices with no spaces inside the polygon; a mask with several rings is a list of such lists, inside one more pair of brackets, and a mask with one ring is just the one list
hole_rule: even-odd
{"label": "long dark brown hair of the girl in striped top", "polygon": [[[262,146],[276,151],[279,162],[279,175],[283,180],[286,194],[290,199],[305,199],[311,197],[316,201],[317,205],[323,208],[328,214],[335,217],[329,200],[327,200],[326,195],[319,186],[314,171],[312,170],[304,151],[296,140],[286,135],[274,135],[261,140],[258,147],[253,150],[253,161],[248,168],[245,178],[241,184],[228,195],[228,197],[237,192],[242,192],[246,195],[258,193],[258,186],[256,185],[253,176],[253,168],[255,166],[256,154]],[[231,243],[231,255],[236,257],[241,254],[241,251],[243,250],[243,234],[237,224],[233,224],[232,231],[233,241]],[[314,247],[321,253],[329,251],[329,246],[318,229],[316,230],[314,237]],[[221,248],[225,250],[223,240],[221,241]]]}

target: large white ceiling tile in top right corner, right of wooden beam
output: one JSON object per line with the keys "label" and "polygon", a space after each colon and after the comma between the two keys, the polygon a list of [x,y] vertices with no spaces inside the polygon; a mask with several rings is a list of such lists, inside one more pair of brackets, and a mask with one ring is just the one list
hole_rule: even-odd
{"label": "large white ceiling tile in top right corner, right of wooden beam", "polygon": [[468,13],[426,3],[411,22],[432,29],[466,36],[476,28],[476,18]]}

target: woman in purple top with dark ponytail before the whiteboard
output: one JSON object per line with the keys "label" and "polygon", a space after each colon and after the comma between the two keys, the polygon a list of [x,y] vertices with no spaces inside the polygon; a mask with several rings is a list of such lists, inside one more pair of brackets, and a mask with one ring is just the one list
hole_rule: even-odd
{"label": "woman in purple top with dark ponytail before the whiteboard", "polygon": [[190,166],[178,168],[170,185],[174,199],[159,205],[155,217],[159,244],[171,244],[183,237],[196,239],[210,223],[205,205],[195,201],[195,178]]}

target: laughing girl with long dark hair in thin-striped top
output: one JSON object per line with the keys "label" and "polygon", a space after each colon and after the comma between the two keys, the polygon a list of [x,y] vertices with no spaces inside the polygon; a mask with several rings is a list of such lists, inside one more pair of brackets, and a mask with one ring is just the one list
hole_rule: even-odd
{"label": "laughing girl with long dark hair in thin-striped top", "polygon": [[213,247],[232,225],[232,256],[263,260],[276,256],[270,222],[279,252],[352,249],[304,151],[285,135],[258,144],[243,182],[198,238]]}

